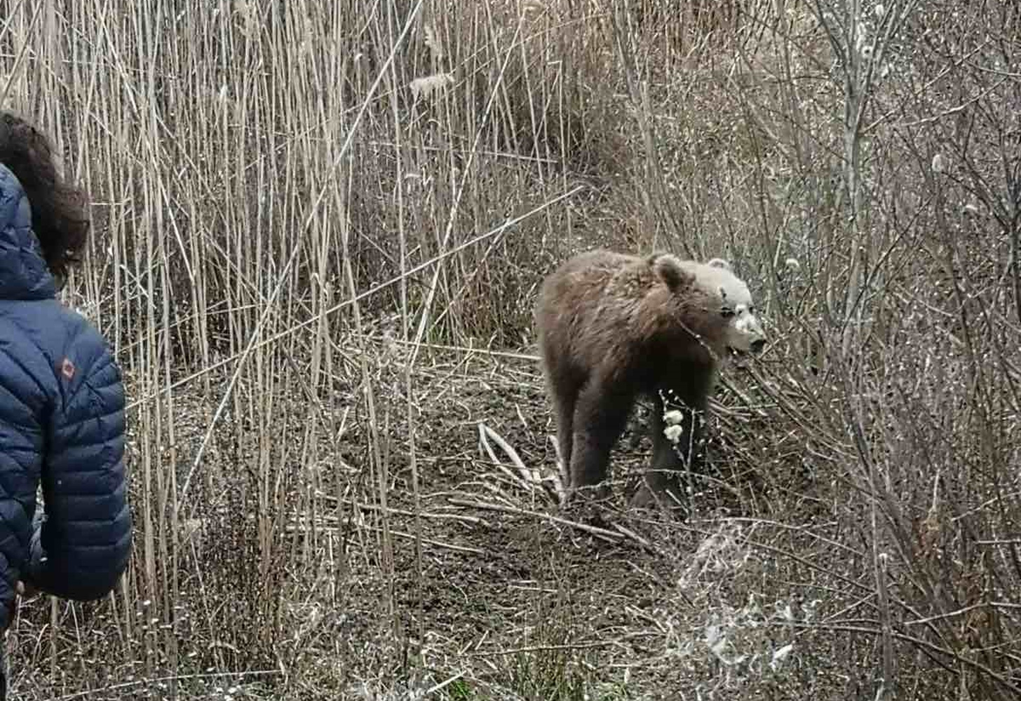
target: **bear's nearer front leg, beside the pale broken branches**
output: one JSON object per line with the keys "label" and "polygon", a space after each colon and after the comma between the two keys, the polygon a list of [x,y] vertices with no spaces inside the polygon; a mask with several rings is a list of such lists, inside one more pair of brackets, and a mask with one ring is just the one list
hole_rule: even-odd
{"label": "bear's nearer front leg, beside the pale broken branches", "polygon": [[[571,449],[571,491],[595,487],[610,467],[610,453],[624,433],[634,395],[604,382],[590,381],[578,395]],[[597,496],[605,496],[603,486]]]}

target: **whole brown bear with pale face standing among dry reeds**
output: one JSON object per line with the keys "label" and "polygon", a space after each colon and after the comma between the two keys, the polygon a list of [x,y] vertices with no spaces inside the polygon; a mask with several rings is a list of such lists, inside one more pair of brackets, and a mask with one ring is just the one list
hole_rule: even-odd
{"label": "whole brown bear with pale face standing among dry reeds", "polygon": [[[701,467],[699,415],[719,363],[728,351],[758,353],[766,343],[747,286],[719,258],[588,251],[546,278],[535,320],[569,494],[605,479],[644,395],[655,404],[652,461],[632,504],[670,492],[677,501],[668,504],[679,505],[680,471]],[[667,411],[665,392],[680,411]]]}

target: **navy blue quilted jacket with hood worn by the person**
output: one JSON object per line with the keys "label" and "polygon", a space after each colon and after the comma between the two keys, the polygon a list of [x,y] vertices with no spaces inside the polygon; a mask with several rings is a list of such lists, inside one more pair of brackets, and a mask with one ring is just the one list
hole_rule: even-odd
{"label": "navy blue quilted jacket with hood worn by the person", "polygon": [[19,580],[98,599],[131,550],[120,370],[55,295],[29,200],[0,164],[0,630]]}

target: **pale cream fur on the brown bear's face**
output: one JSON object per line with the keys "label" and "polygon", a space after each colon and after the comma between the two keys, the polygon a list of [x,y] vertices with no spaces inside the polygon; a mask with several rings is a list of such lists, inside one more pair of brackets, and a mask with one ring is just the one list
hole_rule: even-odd
{"label": "pale cream fur on the brown bear's face", "polygon": [[715,311],[726,319],[724,343],[739,353],[758,353],[766,345],[766,333],[756,315],[755,302],[748,286],[735,276],[730,263],[721,258],[698,263],[678,260],[684,271],[694,277],[694,285],[719,306]]}

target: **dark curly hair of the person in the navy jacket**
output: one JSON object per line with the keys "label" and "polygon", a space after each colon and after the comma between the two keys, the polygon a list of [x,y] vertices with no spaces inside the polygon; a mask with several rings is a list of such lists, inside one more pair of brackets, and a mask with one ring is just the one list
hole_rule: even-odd
{"label": "dark curly hair of the person in the navy jacket", "polygon": [[49,140],[35,127],[0,112],[0,162],[20,181],[32,205],[32,229],[50,272],[60,285],[81,262],[89,237],[85,192],[57,174]]}

